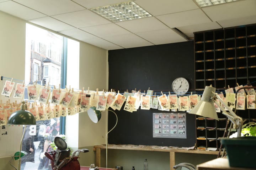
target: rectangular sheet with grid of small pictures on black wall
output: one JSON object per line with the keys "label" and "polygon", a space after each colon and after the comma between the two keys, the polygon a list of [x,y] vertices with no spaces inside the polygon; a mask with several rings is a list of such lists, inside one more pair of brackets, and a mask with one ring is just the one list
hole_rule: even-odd
{"label": "rectangular sheet with grid of small pictures on black wall", "polygon": [[153,113],[153,137],[187,138],[186,113]]}

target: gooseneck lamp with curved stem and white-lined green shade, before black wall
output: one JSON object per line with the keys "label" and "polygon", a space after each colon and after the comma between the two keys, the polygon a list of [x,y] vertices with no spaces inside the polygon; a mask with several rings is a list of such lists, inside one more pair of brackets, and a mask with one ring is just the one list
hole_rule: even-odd
{"label": "gooseneck lamp with curved stem and white-lined green shade, before black wall", "polygon": [[[106,111],[111,111],[111,110],[106,110]],[[111,111],[111,112],[113,112],[116,115],[116,113],[114,111]],[[97,123],[100,120],[100,118],[101,118],[101,111],[96,110],[96,107],[91,107],[87,111],[87,113],[88,113],[90,119],[94,123]],[[116,115],[116,118],[117,118],[117,115]],[[108,131],[107,134],[106,134],[106,168],[107,168],[107,144],[108,144],[107,135],[108,135],[109,132],[111,132],[116,127],[117,120],[116,120],[116,124],[114,125],[114,127],[110,131]]]}

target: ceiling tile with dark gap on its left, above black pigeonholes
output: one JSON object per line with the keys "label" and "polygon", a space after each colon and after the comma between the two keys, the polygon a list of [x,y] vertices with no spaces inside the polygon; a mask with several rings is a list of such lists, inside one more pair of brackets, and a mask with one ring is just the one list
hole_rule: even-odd
{"label": "ceiling tile with dark gap on its left, above black pigeonholes", "polygon": [[188,37],[194,37],[194,32],[205,31],[210,29],[219,29],[222,28],[217,22],[208,22],[203,24],[195,24],[184,27],[177,27],[182,33],[187,35]]}

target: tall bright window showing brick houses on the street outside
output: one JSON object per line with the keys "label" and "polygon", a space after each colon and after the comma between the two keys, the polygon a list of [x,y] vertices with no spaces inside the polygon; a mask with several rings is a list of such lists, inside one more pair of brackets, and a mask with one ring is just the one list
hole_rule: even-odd
{"label": "tall bright window showing brick houses on the street outside", "polygon": [[[50,86],[65,87],[66,77],[63,77],[62,73],[66,72],[63,70],[66,68],[63,67],[66,65],[64,62],[67,61],[67,56],[64,56],[65,53],[63,52],[63,50],[68,50],[68,44],[65,43],[66,39],[30,24],[26,25],[26,82],[37,81],[41,85],[49,83]],[[71,45],[79,46],[79,43],[75,41],[69,46],[71,47]],[[49,159],[45,157],[44,152],[51,151],[50,143],[53,142],[55,136],[65,133],[63,127],[65,127],[65,117],[37,121],[36,135],[32,137],[34,152],[31,154],[31,159],[24,158],[21,170],[48,169]],[[26,138],[23,140],[23,145],[25,145],[25,140]]]}

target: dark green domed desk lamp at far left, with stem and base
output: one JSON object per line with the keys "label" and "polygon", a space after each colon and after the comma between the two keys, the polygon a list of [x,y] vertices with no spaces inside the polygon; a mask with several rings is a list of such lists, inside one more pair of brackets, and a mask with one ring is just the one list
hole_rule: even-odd
{"label": "dark green domed desk lamp at far left, with stem and base", "polygon": [[[21,151],[21,148],[22,148],[22,140],[23,140],[23,137],[24,137],[25,131],[26,131],[26,125],[36,125],[36,119],[34,118],[34,115],[32,113],[26,111],[26,109],[27,109],[27,105],[26,105],[25,101],[22,101],[21,109],[19,111],[12,113],[12,115],[10,116],[10,118],[7,121],[8,125],[25,125],[23,134],[21,137],[20,152],[16,152],[15,155],[12,156],[12,158],[14,157],[15,160],[19,159],[18,160],[18,170],[20,170],[20,168],[21,168],[21,157],[25,155],[25,153]],[[12,160],[12,158],[11,158],[11,160]],[[10,164],[11,164],[11,160],[10,160]],[[17,170],[17,168],[14,165],[12,165],[12,166]]]}

